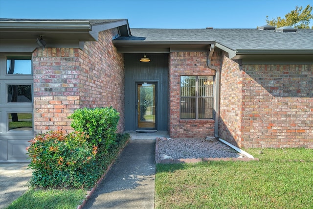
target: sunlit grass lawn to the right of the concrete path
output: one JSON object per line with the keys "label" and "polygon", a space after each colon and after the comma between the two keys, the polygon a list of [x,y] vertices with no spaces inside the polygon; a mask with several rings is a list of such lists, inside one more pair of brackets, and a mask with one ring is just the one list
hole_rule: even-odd
{"label": "sunlit grass lawn to the right of the concrete path", "polygon": [[245,151],[260,162],[157,164],[156,209],[313,208],[312,149]]}

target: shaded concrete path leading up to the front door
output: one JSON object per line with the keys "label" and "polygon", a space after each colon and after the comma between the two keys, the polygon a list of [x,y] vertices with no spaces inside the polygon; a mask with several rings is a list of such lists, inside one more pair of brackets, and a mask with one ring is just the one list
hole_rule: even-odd
{"label": "shaded concrete path leading up to the front door", "polygon": [[134,139],[132,135],[84,209],[154,209],[156,140],[153,137]]}

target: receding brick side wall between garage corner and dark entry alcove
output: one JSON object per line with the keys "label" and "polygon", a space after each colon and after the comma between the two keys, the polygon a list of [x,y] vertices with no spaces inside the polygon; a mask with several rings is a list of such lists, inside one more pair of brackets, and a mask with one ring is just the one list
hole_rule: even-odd
{"label": "receding brick side wall between garage corner and dark entry alcove", "polygon": [[99,33],[97,42],[87,42],[80,51],[81,107],[110,107],[120,113],[119,132],[124,131],[124,56],[112,44],[117,30]]}

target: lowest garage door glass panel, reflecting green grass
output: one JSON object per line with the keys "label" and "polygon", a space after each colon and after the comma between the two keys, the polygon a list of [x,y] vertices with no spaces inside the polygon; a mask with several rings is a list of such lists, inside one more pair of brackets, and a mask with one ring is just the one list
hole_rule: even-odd
{"label": "lowest garage door glass panel, reflecting green grass", "polygon": [[9,131],[33,130],[32,113],[8,113]]}

